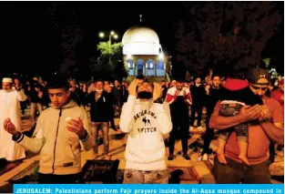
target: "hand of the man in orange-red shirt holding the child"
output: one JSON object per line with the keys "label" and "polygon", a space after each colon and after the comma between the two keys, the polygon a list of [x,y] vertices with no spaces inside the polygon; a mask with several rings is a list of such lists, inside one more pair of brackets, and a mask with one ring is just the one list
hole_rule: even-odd
{"label": "hand of the man in orange-red shirt holding the child", "polygon": [[240,109],[239,114],[241,115],[241,122],[248,122],[251,120],[256,120],[261,116],[261,109],[260,105],[255,105],[253,107],[244,106]]}

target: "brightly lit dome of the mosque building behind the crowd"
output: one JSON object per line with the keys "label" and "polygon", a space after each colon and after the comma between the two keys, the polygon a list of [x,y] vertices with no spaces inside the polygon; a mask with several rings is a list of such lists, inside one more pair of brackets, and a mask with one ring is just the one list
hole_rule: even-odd
{"label": "brightly lit dome of the mosque building behind the crowd", "polygon": [[122,45],[124,55],[158,55],[161,50],[158,34],[147,26],[127,29]]}

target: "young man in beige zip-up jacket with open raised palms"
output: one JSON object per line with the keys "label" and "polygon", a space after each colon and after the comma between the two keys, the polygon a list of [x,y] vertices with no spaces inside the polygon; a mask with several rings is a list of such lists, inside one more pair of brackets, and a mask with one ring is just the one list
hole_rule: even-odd
{"label": "young man in beige zip-up jacket with open raised palms", "polygon": [[33,138],[18,132],[9,117],[5,119],[4,128],[18,145],[40,153],[39,183],[76,183],[81,178],[80,147],[92,148],[87,113],[70,101],[64,79],[53,78],[48,82],[48,95],[51,107],[38,117]]}

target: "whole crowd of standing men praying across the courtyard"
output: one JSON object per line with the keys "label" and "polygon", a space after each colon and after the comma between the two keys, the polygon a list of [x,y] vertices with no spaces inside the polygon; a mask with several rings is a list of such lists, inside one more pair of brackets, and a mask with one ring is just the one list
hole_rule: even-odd
{"label": "whole crowd of standing men praying across the courtyard", "polygon": [[[81,148],[93,149],[97,159],[99,130],[104,158],[111,159],[109,128],[128,134],[124,183],[168,183],[164,137],[169,134],[168,160],[175,159],[177,139],[181,139],[183,158],[190,160],[189,132],[203,129],[203,107],[207,109],[203,160],[212,153],[209,145],[214,129],[219,131],[213,168],[217,183],[270,183],[270,143],[272,153],[274,144],[284,142],[284,82],[276,86],[260,68],[224,81],[215,74],[205,81],[195,77],[189,83],[183,79],[150,83],[137,77],[128,86],[118,80],[114,84],[102,80],[77,84],[74,79],[67,83],[60,77],[39,83],[35,77],[26,85],[16,78],[4,78],[2,86],[0,158],[25,158],[25,149],[39,153],[40,183],[80,179]],[[32,137],[21,132],[19,101],[22,114],[26,105],[31,107],[36,122]],[[114,117],[120,117],[119,127]]]}

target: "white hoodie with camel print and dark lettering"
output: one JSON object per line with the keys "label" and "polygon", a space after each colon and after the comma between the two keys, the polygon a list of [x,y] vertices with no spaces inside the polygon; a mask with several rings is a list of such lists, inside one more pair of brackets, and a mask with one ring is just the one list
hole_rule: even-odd
{"label": "white hoodie with camel print and dark lettering", "polygon": [[127,137],[126,167],[137,170],[166,169],[163,135],[172,129],[168,103],[142,102],[128,96],[119,126]]}

